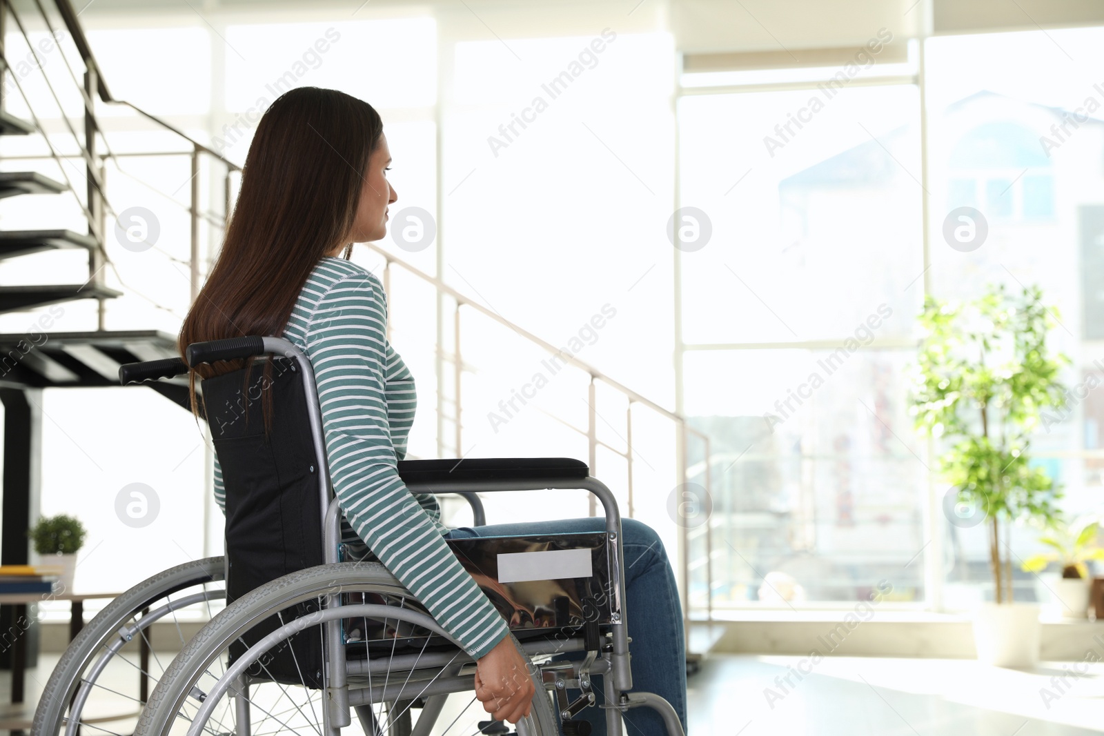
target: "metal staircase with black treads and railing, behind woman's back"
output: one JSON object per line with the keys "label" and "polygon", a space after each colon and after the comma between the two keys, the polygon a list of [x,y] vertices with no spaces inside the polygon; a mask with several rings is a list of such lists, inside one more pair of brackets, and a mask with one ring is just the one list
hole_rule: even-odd
{"label": "metal staircase with black treads and railing, behind woman's back", "polygon": [[[20,83],[20,79],[10,71],[8,58],[3,53],[4,31],[10,28],[12,21],[31,47],[33,45],[29,38],[29,29],[32,28],[32,24],[47,30],[55,39],[67,33],[72,53],[63,54],[62,61],[68,66],[70,76],[74,86],[78,88],[84,109],[83,120],[77,126],[74,126],[65,117],[64,111],[62,117],[65,127],[72,134],[65,137],[64,142],[70,148],[75,142],[76,153],[64,154],[60,152],[62,146],[51,140],[51,136],[57,138],[56,134],[47,135],[41,128],[39,116],[34,114],[33,108],[32,120],[17,117],[6,109],[8,100],[4,98],[4,94],[22,95],[24,99],[26,97],[24,86],[28,79],[24,78],[22,84]],[[61,44],[62,40],[59,39],[57,42]],[[70,66],[70,56],[81,58],[84,68]],[[7,396],[8,401],[12,401],[12,391],[25,388],[118,385],[117,375],[120,364],[169,358],[176,355],[177,351],[176,338],[168,332],[159,330],[113,331],[104,327],[105,301],[123,296],[124,291],[113,288],[106,282],[108,268],[105,266],[110,266],[112,262],[105,247],[105,234],[108,232],[105,227],[105,213],[113,207],[105,185],[104,164],[105,159],[113,159],[115,154],[110,150],[106,134],[96,118],[96,104],[126,107],[136,117],[152,124],[156,129],[172,134],[182,143],[182,150],[155,153],[190,156],[193,174],[199,173],[201,157],[208,157],[224,167],[226,191],[223,199],[227,204],[230,202],[230,174],[238,171],[238,167],[183,135],[170,124],[129,103],[113,98],[99,74],[99,67],[70,0],[53,0],[49,4],[44,4],[41,0],[33,0],[33,3],[0,0],[0,64],[2,64],[2,68],[8,70],[7,78],[15,82],[14,85],[0,87],[0,136],[40,137],[49,149],[49,156],[54,159],[61,170],[62,178],[66,180],[64,182],[57,181],[33,170],[0,171],[0,199],[26,195],[68,198],[71,201],[75,200],[87,223],[86,233],[57,228],[0,230],[0,260],[25,258],[44,252],[75,249],[84,252],[88,263],[88,279],[83,284],[0,284],[0,313],[33,312],[51,305],[75,300],[95,299],[98,302],[97,329],[95,330],[51,332],[49,329],[44,329],[41,344],[26,333],[0,333],[0,393]],[[54,64],[56,65],[56,62]],[[43,76],[45,76],[45,72],[43,72]],[[83,83],[77,83],[78,76],[83,76]],[[46,84],[51,85],[49,78]],[[55,85],[56,78],[54,84],[50,86],[50,92],[55,99],[59,99]],[[72,93],[72,89],[68,92]],[[62,108],[60,100],[59,108]],[[78,129],[81,129],[79,134]],[[132,156],[134,153],[128,152],[128,154]],[[0,157],[0,164],[3,162],[3,157]],[[83,177],[78,175],[74,181],[74,178],[71,177],[74,171],[83,173]],[[82,179],[83,181],[81,181]],[[197,247],[199,237],[195,231],[201,221],[213,222],[216,225],[221,225],[225,221],[225,211],[222,213],[201,211],[198,192],[198,177],[193,175],[190,204],[193,231],[191,233],[191,296],[194,296],[198,290],[200,277],[200,258]],[[2,223],[0,223],[0,227],[2,227]],[[46,319],[50,321],[49,318]],[[151,384],[151,387],[178,404],[189,406],[184,381],[162,381]]]}

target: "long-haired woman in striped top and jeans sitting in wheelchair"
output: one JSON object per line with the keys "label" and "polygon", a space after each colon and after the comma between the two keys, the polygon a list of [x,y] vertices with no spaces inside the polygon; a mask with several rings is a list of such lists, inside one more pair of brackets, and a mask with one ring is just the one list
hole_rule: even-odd
{"label": "long-haired woman in striped top and jeans sitting in wheelchair", "polygon": [[[537,690],[531,679],[517,676],[531,666],[529,658],[446,540],[605,527],[602,519],[573,519],[450,530],[435,497],[414,494],[400,479],[396,462],[405,457],[416,405],[414,377],[388,341],[380,280],[349,260],[354,243],[386,234],[389,206],[397,200],[386,179],[390,164],[383,125],[367,103],[316,87],[277,98],[257,126],[221,252],[179,346],[183,354],[202,341],[278,335],[309,358],[347,558],[382,563],[476,661],[475,695],[487,713],[517,723],[530,713]],[[225,361],[195,371],[206,381],[244,364]],[[268,410],[264,402],[262,410]],[[211,429],[219,431],[214,423]],[[223,483],[216,458],[216,500],[232,514]],[[684,729],[675,576],[651,529],[630,519],[622,529],[633,687],[666,698]],[[595,691],[601,706],[602,689]],[[588,721],[591,733],[606,733],[605,710],[586,707],[575,717]],[[649,707],[622,717],[629,734],[667,733]]]}

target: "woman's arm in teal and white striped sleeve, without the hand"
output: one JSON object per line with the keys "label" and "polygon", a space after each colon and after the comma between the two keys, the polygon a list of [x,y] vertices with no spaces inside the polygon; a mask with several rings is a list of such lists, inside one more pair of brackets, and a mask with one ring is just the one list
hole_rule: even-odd
{"label": "woman's arm in teal and white striped sleeve, without the hand", "polygon": [[335,282],[307,324],[333,489],[380,562],[479,659],[509,629],[399,477],[384,394],[385,324],[383,289],[370,274]]}

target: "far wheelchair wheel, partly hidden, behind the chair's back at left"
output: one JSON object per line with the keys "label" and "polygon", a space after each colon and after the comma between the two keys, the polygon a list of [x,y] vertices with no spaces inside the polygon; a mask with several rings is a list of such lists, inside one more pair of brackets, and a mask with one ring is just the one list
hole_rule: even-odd
{"label": "far wheelchair wheel, partly hidden, behind the chair's back at left", "polygon": [[[167,569],[115,598],[81,630],[57,662],[34,712],[32,736],[75,736],[82,726],[86,726],[85,734],[120,733],[120,723],[132,724],[148,689],[169,665],[163,652],[187,643],[180,609],[199,606],[210,618],[212,601],[225,598],[223,577],[223,558],[209,557]],[[176,623],[173,636],[151,641],[149,627],[155,621]],[[149,646],[145,658],[138,651],[140,641]],[[132,678],[132,686],[118,686],[120,672]],[[105,681],[113,676],[109,686]]]}

